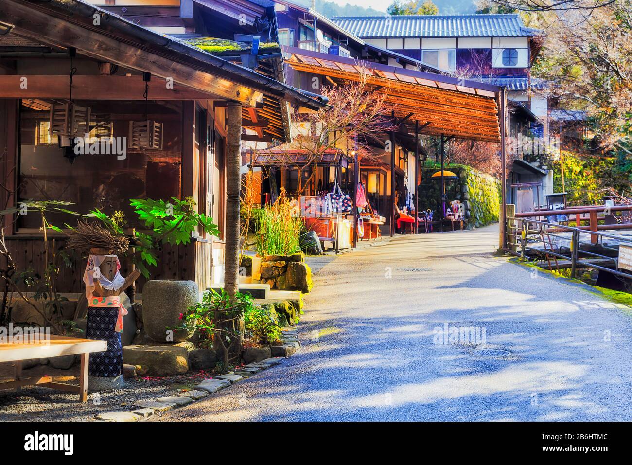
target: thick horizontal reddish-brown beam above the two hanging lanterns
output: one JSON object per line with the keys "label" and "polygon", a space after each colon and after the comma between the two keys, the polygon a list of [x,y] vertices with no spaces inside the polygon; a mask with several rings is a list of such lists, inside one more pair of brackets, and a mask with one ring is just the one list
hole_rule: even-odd
{"label": "thick horizontal reddish-brown beam above the two hanging lanterns", "polygon": [[[26,78],[26,89],[21,85]],[[73,99],[78,100],[144,100],[145,82],[142,76],[75,76]],[[0,98],[3,99],[68,99],[68,76],[5,75],[0,76]],[[174,83],[167,89],[162,79],[149,83],[150,100],[207,100],[221,98],[210,92],[200,92]]]}

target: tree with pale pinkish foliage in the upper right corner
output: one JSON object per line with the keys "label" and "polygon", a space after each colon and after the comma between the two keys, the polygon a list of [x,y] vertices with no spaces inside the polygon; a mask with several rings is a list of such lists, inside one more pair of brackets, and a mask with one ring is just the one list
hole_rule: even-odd
{"label": "tree with pale pinkish foliage in the upper right corner", "polygon": [[[588,113],[602,151],[632,154],[632,2],[540,15],[547,41],[533,74],[550,97]],[[594,148],[594,147],[593,147]]]}

